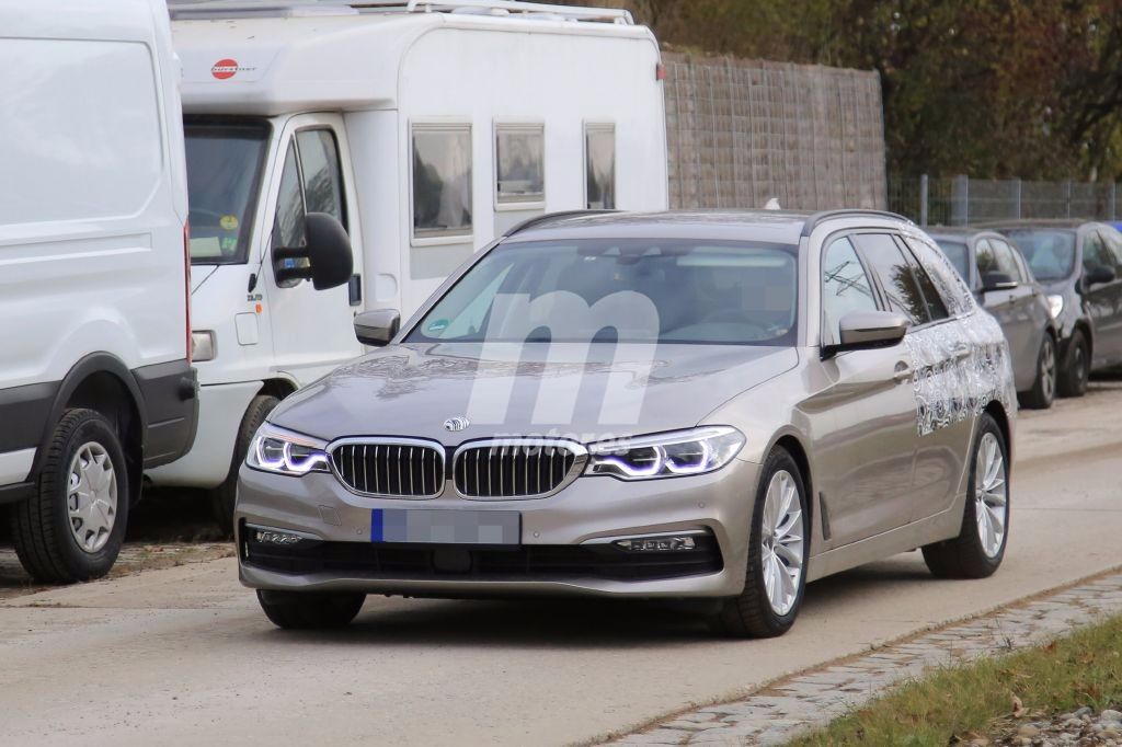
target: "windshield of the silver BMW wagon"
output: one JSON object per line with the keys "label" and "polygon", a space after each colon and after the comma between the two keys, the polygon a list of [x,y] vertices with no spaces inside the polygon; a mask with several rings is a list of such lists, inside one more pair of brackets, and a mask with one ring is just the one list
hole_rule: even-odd
{"label": "windshield of the silver BMW wagon", "polygon": [[500,245],[407,341],[792,345],[797,252],[656,239]]}

